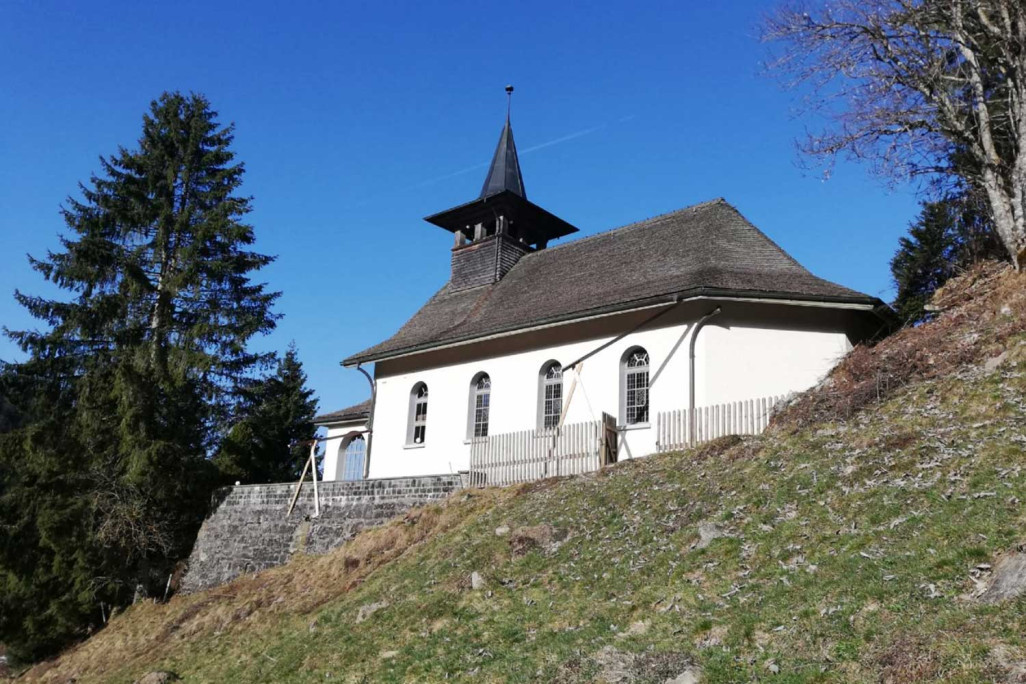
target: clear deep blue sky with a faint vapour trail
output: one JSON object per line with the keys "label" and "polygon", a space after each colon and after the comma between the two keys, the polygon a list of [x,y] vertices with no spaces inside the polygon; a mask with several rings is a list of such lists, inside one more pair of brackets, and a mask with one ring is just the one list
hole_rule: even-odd
{"label": "clear deep blue sky with a faint vapour trail", "polygon": [[170,89],[237,126],[278,256],[261,277],[283,292],[256,345],[295,340],[323,410],[368,392],[339,361],[445,282],[451,236],[422,217],[477,196],[507,83],[528,196],[581,235],[725,197],[817,275],[890,299],[915,197],[800,167],[817,122],[762,73],[772,4],[0,0],[0,323],[35,325],[10,294],[54,291],[26,254],[57,247],[61,203]]}

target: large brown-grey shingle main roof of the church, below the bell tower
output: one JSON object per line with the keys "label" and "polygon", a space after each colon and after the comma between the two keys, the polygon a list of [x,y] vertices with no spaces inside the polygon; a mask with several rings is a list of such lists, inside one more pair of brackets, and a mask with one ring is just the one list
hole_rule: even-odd
{"label": "large brown-grey shingle main roof of the church, below the bell tower", "polygon": [[701,294],[882,304],[817,278],[717,199],[526,254],[494,285],[446,285],[398,332],[344,363]]}

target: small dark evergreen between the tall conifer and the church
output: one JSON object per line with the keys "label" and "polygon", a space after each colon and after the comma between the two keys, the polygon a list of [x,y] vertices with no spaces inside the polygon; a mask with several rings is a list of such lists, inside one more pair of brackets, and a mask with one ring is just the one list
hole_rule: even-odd
{"label": "small dark evergreen between the tall conifer and the church", "polygon": [[306,387],[295,346],[279,360],[273,375],[246,393],[232,428],[215,458],[231,482],[288,482],[298,480],[309,456],[309,446],[297,442],[314,434],[317,400]]}

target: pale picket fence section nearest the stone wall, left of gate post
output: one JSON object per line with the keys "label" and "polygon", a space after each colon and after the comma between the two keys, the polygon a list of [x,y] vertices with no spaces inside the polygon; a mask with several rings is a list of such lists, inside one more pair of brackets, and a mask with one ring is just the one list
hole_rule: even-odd
{"label": "pale picket fence section nearest the stone wall, left of gate post", "polygon": [[601,420],[478,438],[470,444],[471,485],[504,486],[597,471],[601,446]]}

